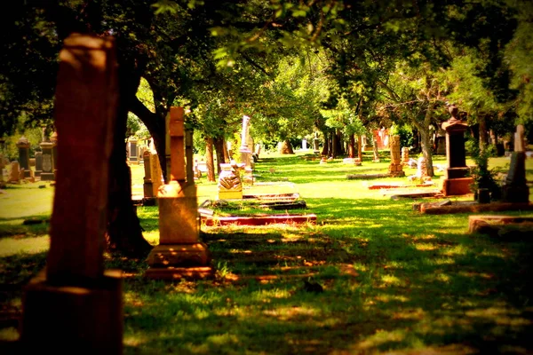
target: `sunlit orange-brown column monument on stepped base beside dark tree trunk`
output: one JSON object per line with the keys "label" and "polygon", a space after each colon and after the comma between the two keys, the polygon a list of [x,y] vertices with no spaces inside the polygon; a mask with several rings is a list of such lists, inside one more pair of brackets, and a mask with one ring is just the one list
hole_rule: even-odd
{"label": "sunlit orange-brown column monument on stepped base beside dark tree trunk", "polygon": [[[209,250],[199,241],[200,217],[192,175],[193,162],[188,161],[190,169],[185,167],[185,155],[192,158],[192,146],[186,146],[188,139],[185,139],[183,114],[182,107],[171,107],[171,178],[157,194],[159,245],[148,255],[146,272],[146,276],[152,279],[205,277],[212,272],[208,266],[211,262]],[[186,180],[189,174],[190,178]]]}

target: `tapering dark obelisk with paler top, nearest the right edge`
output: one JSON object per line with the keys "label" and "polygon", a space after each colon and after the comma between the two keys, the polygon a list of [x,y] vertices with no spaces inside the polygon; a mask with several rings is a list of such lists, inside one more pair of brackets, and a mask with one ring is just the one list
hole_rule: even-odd
{"label": "tapering dark obelisk with paler top, nearest the right edge", "polygon": [[511,154],[509,172],[502,186],[505,202],[529,202],[529,186],[526,180],[526,152],[524,152],[524,126],[519,124],[514,134],[514,152]]}

